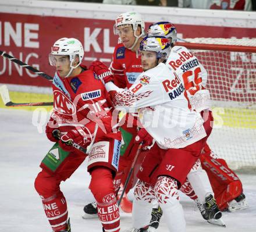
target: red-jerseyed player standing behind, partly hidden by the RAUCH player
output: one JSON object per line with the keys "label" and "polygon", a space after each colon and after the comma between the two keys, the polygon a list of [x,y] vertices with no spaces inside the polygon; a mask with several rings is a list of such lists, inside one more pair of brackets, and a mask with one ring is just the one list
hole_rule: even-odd
{"label": "red-jerseyed player standing behind, partly hidden by the RAUCH player", "polygon": [[[114,33],[119,35],[120,43],[116,45],[113,52],[113,59],[110,66],[114,74],[115,84],[120,88],[129,88],[137,76],[143,72],[141,69],[141,60],[138,57],[138,47],[140,41],[143,39],[145,33],[145,23],[141,15],[137,12],[126,12],[120,14],[114,25]],[[115,178],[116,190],[122,191],[122,185],[125,183],[127,174],[129,173],[131,163],[133,162],[134,155],[136,153],[138,144],[134,144],[134,137],[137,134],[137,119],[136,113],[127,114],[123,117],[120,123],[120,130],[122,132],[123,143],[120,149],[119,160],[119,172]],[[142,161],[143,154],[137,160],[136,173],[138,166]],[[130,188],[136,183],[136,174],[133,174],[126,192],[129,192]],[[123,202],[126,201],[126,202]],[[131,202],[128,202],[126,198],[123,198],[120,206],[126,212],[131,210]],[[88,204],[84,207],[85,219],[92,217],[97,212],[95,204]],[[131,211],[130,211],[131,212]]]}

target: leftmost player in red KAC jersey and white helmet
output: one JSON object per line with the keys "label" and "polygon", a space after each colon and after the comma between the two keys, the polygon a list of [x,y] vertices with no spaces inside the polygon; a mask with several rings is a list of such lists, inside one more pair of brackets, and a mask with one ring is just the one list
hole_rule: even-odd
{"label": "leftmost player in red KAC jersey and white helmet", "polygon": [[[120,216],[113,177],[118,170],[120,136],[112,131],[111,103],[105,87],[91,70],[81,65],[83,56],[83,46],[75,38],[61,38],[52,46],[49,62],[56,67],[52,82],[54,110],[45,132],[55,145],[41,162],[35,190],[52,230],[70,232],[60,184],[88,154],[90,190],[103,231],[118,232]],[[87,154],[77,149],[80,146],[87,148]]]}

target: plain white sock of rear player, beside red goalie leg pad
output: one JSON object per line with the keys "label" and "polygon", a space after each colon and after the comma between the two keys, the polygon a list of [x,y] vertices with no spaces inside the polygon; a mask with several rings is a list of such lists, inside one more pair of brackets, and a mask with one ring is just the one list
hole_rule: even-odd
{"label": "plain white sock of rear player, beside red goalie leg pad", "polygon": [[205,197],[207,195],[212,194],[214,196],[214,191],[212,191],[212,186],[205,170],[201,169],[196,172],[190,172],[187,175],[187,179],[190,181],[195,194],[202,204],[205,204]]}

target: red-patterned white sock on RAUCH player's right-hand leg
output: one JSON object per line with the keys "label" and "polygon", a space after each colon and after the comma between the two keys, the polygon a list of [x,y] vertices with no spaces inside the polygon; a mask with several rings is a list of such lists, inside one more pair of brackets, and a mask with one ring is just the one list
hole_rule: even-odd
{"label": "red-patterned white sock on RAUCH player's right-hand leg", "polygon": [[163,210],[170,232],[185,232],[186,221],[182,205],[179,202],[177,181],[166,176],[158,177],[155,184],[155,195]]}

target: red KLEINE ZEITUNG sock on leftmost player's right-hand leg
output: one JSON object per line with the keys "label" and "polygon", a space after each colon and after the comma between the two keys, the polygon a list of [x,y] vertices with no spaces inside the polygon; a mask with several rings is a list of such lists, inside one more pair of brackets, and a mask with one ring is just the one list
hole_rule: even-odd
{"label": "red KLEINE ZEITUNG sock on leftmost player's right-hand leg", "polygon": [[97,167],[91,172],[90,190],[97,202],[98,217],[106,232],[120,231],[120,215],[110,169]]}

